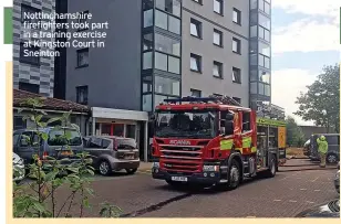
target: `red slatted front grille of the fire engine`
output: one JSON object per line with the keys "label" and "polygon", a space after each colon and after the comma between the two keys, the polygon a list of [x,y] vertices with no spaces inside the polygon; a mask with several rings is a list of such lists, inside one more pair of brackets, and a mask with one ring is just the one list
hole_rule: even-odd
{"label": "red slatted front grille of the fire engine", "polygon": [[165,147],[161,149],[162,168],[169,173],[197,172],[202,163],[202,148],[199,147]]}

